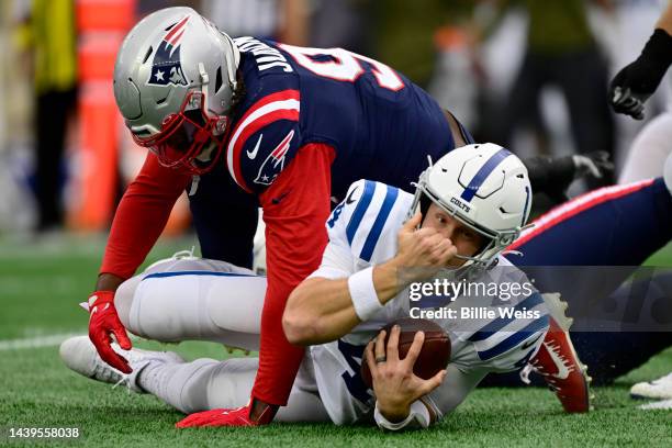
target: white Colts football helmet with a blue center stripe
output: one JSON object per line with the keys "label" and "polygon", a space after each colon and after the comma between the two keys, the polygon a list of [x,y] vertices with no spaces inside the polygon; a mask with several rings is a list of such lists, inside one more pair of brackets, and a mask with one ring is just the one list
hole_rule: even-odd
{"label": "white Colts football helmet with a blue center stripe", "polygon": [[[456,148],[419,177],[408,216],[434,202],[488,238],[463,266],[489,267],[525,227],[531,209],[527,168],[502,146],[484,143]],[[426,211],[426,210],[425,210]]]}

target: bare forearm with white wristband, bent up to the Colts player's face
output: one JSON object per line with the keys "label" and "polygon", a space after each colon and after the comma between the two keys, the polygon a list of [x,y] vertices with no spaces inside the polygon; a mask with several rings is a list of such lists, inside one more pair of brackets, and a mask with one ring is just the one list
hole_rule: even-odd
{"label": "bare forearm with white wristband, bent up to the Colts player's face", "polygon": [[[348,272],[347,248],[338,244],[339,238],[333,238],[321,268],[290,294],[282,317],[288,339],[300,345],[338,339],[378,312],[408,283],[432,277],[445,266],[457,249],[450,239],[432,228],[416,231],[421,220],[418,212],[402,226],[399,249],[392,259],[355,273]],[[400,277],[404,267],[419,266],[426,269]]]}

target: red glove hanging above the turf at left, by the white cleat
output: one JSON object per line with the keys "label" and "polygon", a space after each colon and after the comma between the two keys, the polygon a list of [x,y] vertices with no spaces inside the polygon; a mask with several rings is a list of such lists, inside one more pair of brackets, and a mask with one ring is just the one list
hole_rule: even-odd
{"label": "red glove hanging above the turf at left, by the white cleat", "polygon": [[133,369],[128,366],[128,361],[116,354],[111,346],[110,334],[113,334],[121,348],[124,350],[131,349],[131,339],[128,339],[126,329],[119,320],[114,307],[114,292],[96,291],[89,295],[89,313],[91,313],[89,339],[96,346],[98,355],[116,370],[131,373]]}

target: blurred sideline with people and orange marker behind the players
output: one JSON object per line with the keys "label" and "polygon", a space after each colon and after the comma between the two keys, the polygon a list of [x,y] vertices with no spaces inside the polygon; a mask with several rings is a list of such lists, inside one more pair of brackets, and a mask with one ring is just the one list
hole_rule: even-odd
{"label": "blurred sideline with people and orange marker behind the players", "polygon": [[[0,240],[103,235],[145,157],[112,96],[119,45],[143,15],[190,5],[226,33],[374,57],[475,136],[520,156],[607,150],[621,167],[645,122],[607,83],[664,0],[2,0]],[[662,111],[669,82],[647,103]],[[579,193],[585,186],[573,186]],[[183,199],[167,235],[189,234]]]}

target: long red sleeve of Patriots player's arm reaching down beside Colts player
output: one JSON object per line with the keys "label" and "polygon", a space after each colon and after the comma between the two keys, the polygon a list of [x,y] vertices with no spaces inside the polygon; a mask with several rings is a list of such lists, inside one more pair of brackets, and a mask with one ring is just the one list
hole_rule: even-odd
{"label": "long red sleeve of Patriots player's arm reaching down beside Colts player", "polygon": [[320,266],[327,244],[332,163],[325,144],[299,148],[294,159],[260,195],[266,222],[268,287],[261,313],[259,370],[253,396],[284,405],[303,358],[282,329],[292,290]]}

